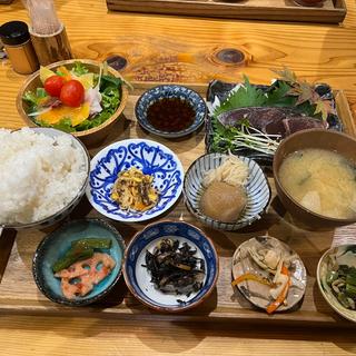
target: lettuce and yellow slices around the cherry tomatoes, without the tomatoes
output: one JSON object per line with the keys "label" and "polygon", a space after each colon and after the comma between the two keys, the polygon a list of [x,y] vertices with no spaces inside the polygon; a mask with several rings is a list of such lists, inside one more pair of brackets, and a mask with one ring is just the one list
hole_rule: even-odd
{"label": "lettuce and yellow slices around the cherry tomatoes, without the tomatoes", "polygon": [[[49,69],[44,70],[48,72],[47,76],[50,76]],[[40,127],[51,127],[66,132],[89,130],[107,121],[121,102],[123,81],[110,75],[106,63],[102,65],[100,75],[90,72],[80,61],[77,61],[71,69],[59,67],[53,75],[63,78],[68,78],[69,75],[72,79],[82,82],[86,91],[83,105],[88,106],[82,109],[85,113],[82,111],[78,113],[80,119],[77,119],[75,123],[72,118],[66,113],[58,121],[52,122],[55,120],[43,120],[41,117],[43,115],[48,117],[48,111],[56,111],[63,103],[58,98],[50,97],[42,87],[37,88],[36,91],[27,91],[22,97],[28,105],[27,113]]]}

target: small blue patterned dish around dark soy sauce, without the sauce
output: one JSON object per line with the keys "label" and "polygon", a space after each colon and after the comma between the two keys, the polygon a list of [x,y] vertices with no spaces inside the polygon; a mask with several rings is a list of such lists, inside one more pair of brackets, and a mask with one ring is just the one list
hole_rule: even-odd
{"label": "small blue patterned dish around dark soy sauce, without the sauce", "polygon": [[[177,132],[156,129],[147,120],[147,110],[155,101],[162,98],[179,98],[181,100],[187,100],[196,112],[194,122],[185,130]],[[135,107],[135,115],[139,125],[147,131],[166,138],[177,138],[194,132],[202,125],[206,113],[207,106],[204,99],[196,91],[177,85],[164,85],[149,89],[138,99]]]}

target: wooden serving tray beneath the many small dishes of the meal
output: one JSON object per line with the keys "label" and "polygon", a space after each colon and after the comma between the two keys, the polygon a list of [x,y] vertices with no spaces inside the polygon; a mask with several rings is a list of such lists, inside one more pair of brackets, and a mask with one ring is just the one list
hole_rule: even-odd
{"label": "wooden serving tray beneath the many small dishes of the meal", "polygon": [[[116,129],[110,134],[101,147],[90,150],[95,155],[103,146],[112,141],[127,138],[150,138],[162,142],[172,149],[180,158],[185,170],[199,156],[205,152],[204,129],[189,138],[167,140],[152,137],[144,132],[135,122],[134,106],[138,96],[151,85],[137,85],[135,92],[129,97],[125,109],[126,120],[119,120]],[[207,90],[205,86],[190,86],[202,96]],[[342,91],[337,92],[338,113],[343,119],[345,130],[356,136],[355,125],[348,109],[347,100]],[[352,324],[339,317],[324,300],[318,290],[315,276],[317,263],[323,251],[332,244],[339,244],[342,239],[353,236],[356,233],[356,225],[338,228],[336,230],[313,231],[307,230],[285,211],[274,187],[273,178],[269,178],[273,190],[273,199],[268,212],[261,220],[248,228],[235,233],[218,231],[205,228],[187,211],[182,198],[176,206],[166,214],[162,219],[182,219],[202,228],[212,239],[220,260],[218,284],[212,295],[198,308],[182,314],[160,314],[145,307],[137,301],[128,291],[122,278],[113,290],[100,304],[88,307],[65,307],[48,300],[38,289],[32,278],[32,256],[41,239],[53,228],[44,230],[22,230],[16,234],[14,230],[6,230],[0,238],[0,314],[27,314],[27,315],[67,315],[67,316],[96,316],[99,318],[120,317],[135,319],[166,319],[166,320],[235,320],[248,323],[308,325],[308,326],[334,326],[353,327]],[[98,217],[86,198],[73,211],[71,218]],[[145,224],[122,224],[110,221],[121,233],[126,241],[137,230],[145,227]],[[246,239],[260,236],[274,236],[295,249],[305,263],[308,281],[306,295],[303,303],[294,312],[276,313],[268,316],[264,310],[254,308],[238,291],[230,285],[231,281],[231,258],[235,249]],[[14,235],[16,238],[14,238]]]}

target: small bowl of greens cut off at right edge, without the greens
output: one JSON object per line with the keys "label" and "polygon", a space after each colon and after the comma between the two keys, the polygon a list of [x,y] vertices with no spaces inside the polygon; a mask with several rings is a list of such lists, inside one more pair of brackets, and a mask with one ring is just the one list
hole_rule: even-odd
{"label": "small bowl of greens cut off at right edge, without the greens", "polygon": [[[330,264],[330,255],[336,256],[344,256],[346,257],[347,264],[356,265],[356,245],[343,245],[338,247],[332,247],[322,256],[318,267],[317,267],[317,281],[320,289],[320,293],[328,305],[340,316],[344,318],[356,322],[356,310],[350,310],[345,308],[337,299],[337,297],[332,291],[330,286],[326,281],[327,273],[329,271],[329,264]],[[342,257],[343,258],[343,257]],[[342,265],[342,263],[340,263]],[[346,263],[345,263],[346,265]]]}

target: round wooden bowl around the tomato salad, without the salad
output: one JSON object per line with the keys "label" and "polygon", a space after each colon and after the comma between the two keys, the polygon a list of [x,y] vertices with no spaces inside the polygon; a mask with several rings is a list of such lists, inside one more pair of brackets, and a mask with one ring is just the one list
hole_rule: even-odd
{"label": "round wooden bowl around the tomato salad, without the salad", "polygon": [[[70,69],[78,61],[82,62],[89,69],[90,72],[99,73],[101,63],[99,61],[95,61],[90,59],[62,60],[62,61],[49,65],[47,66],[47,68],[51,70],[56,70],[58,67],[65,66]],[[108,71],[110,75],[117,78],[121,78],[121,75],[118,71],[113,70],[112,68],[108,68]],[[40,80],[40,72],[38,70],[24,81],[17,97],[16,102],[17,102],[18,112],[30,127],[37,127],[37,125],[27,115],[28,106],[26,101],[22,100],[22,98],[28,90],[36,91],[36,89],[40,87],[43,87],[43,85]],[[106,120],[98,127],[93,127],[85,131],[71,132],[71,135],[79,138],[87,146],[93,146],[102,141],[109,135],[110,130],[112,129],[112,125],[119,119],[121,112],[123,111],[128,96],[129,96],[128,88],[126,86],[121,86],[120,105],[108,120]]]}

